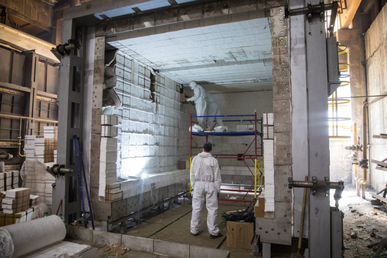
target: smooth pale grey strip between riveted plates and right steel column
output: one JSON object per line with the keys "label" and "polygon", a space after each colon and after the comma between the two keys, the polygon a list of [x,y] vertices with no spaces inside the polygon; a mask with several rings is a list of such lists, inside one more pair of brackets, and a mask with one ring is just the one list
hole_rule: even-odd
{"label": "smooth pale grey strip between riveted plates and right steel column", "polygon": [[[290,8],[303,7],[303,1],[292,0]],[[308,175],[307,103],[306,103],[306,66],[305,66],[305,30],[304,16],[290,17],[290,69],[292,96],[292,170],[294,180],[304,180]],[[294,188],[293,236],[299,236],[303,189]],[[303,237],[308,237],[308,202],[305,207]]]}

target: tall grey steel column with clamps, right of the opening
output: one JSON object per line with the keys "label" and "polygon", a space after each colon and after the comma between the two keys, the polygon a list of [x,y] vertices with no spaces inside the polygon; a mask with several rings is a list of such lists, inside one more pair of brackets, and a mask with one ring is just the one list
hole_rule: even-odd
{"label": "tall grey steel column with clamps, right of the opening", "polygon": [[[311,4],[318,4],[318,0]],[[314,17],[305,21],[306,74],[308,98],[309,177],[329,177],[329,137],[327,102],[327,52],[325,23]],[[322,31],[322,33],[321,33]],[[329,198],[324,189],[309,194],[309,257],[331,255]]]}

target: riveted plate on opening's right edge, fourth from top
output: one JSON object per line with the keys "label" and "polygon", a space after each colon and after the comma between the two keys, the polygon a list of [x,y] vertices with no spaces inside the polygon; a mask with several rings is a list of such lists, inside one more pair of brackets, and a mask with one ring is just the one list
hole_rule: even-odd
{"label": "riveted plate on opening's right edge, fourth from top", "polygon": [[274,132],[291,131],[291,100],[282,99],[273,101]]}

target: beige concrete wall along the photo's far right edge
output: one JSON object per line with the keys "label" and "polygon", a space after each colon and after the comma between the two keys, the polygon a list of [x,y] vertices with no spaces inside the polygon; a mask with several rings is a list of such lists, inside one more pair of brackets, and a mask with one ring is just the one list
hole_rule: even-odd
{"label": "beige concrete wall along the photo's far right edge", "polygon": [[[387,5],[384,5],[371,27],[365,34],[365,55],[367,69],[368,95],[385,94],[387,91]],[[373,98],[369,98],[372,100]],[[370,160],[382,161],[387,157],[387,139],[373,138],[385,134],[387,121],[387,98],[379,100],[368,107]],[[370,179],[374,189],[379,190],[387,181],[386,171],[375,169],[370,162]]]}

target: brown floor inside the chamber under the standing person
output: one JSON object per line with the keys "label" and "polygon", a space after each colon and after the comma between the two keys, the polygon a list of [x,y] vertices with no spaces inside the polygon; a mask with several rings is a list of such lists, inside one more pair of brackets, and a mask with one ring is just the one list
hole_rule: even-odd
{"label": "brown floor inside the chamber under the standing person", "polygon": [[[141,223],[138,221],[128,222],[128,229],[124,233],[126,235],[153,238],[157,240],[170,241],[176,243],[184,243],[211,248],[220,248],[230,251],[231,258],[239,257],[262,257],[261,254],[254,255],[251,249],[228,248],[226,241],[226,224],[222,223],[222,213],[227,211],[235,211],[245,209],[244,204],[223,202],[218,208],[218,226],[223,237],[211,239],[207,230],[207,209],[202,212],[201,231],[200,235],[192,236],[189,231],[191,220],[191,205],[189,201],[179,199],[178,203],[173,204],[171,210],[154,211],[153,214],[142,215]],[[113,231],[118,233],[118,228]],[[279,246],[278,246],[279,247]],[[289,249],[281,246],[280,249],[273,246],[273,257],[290,257]]]}

